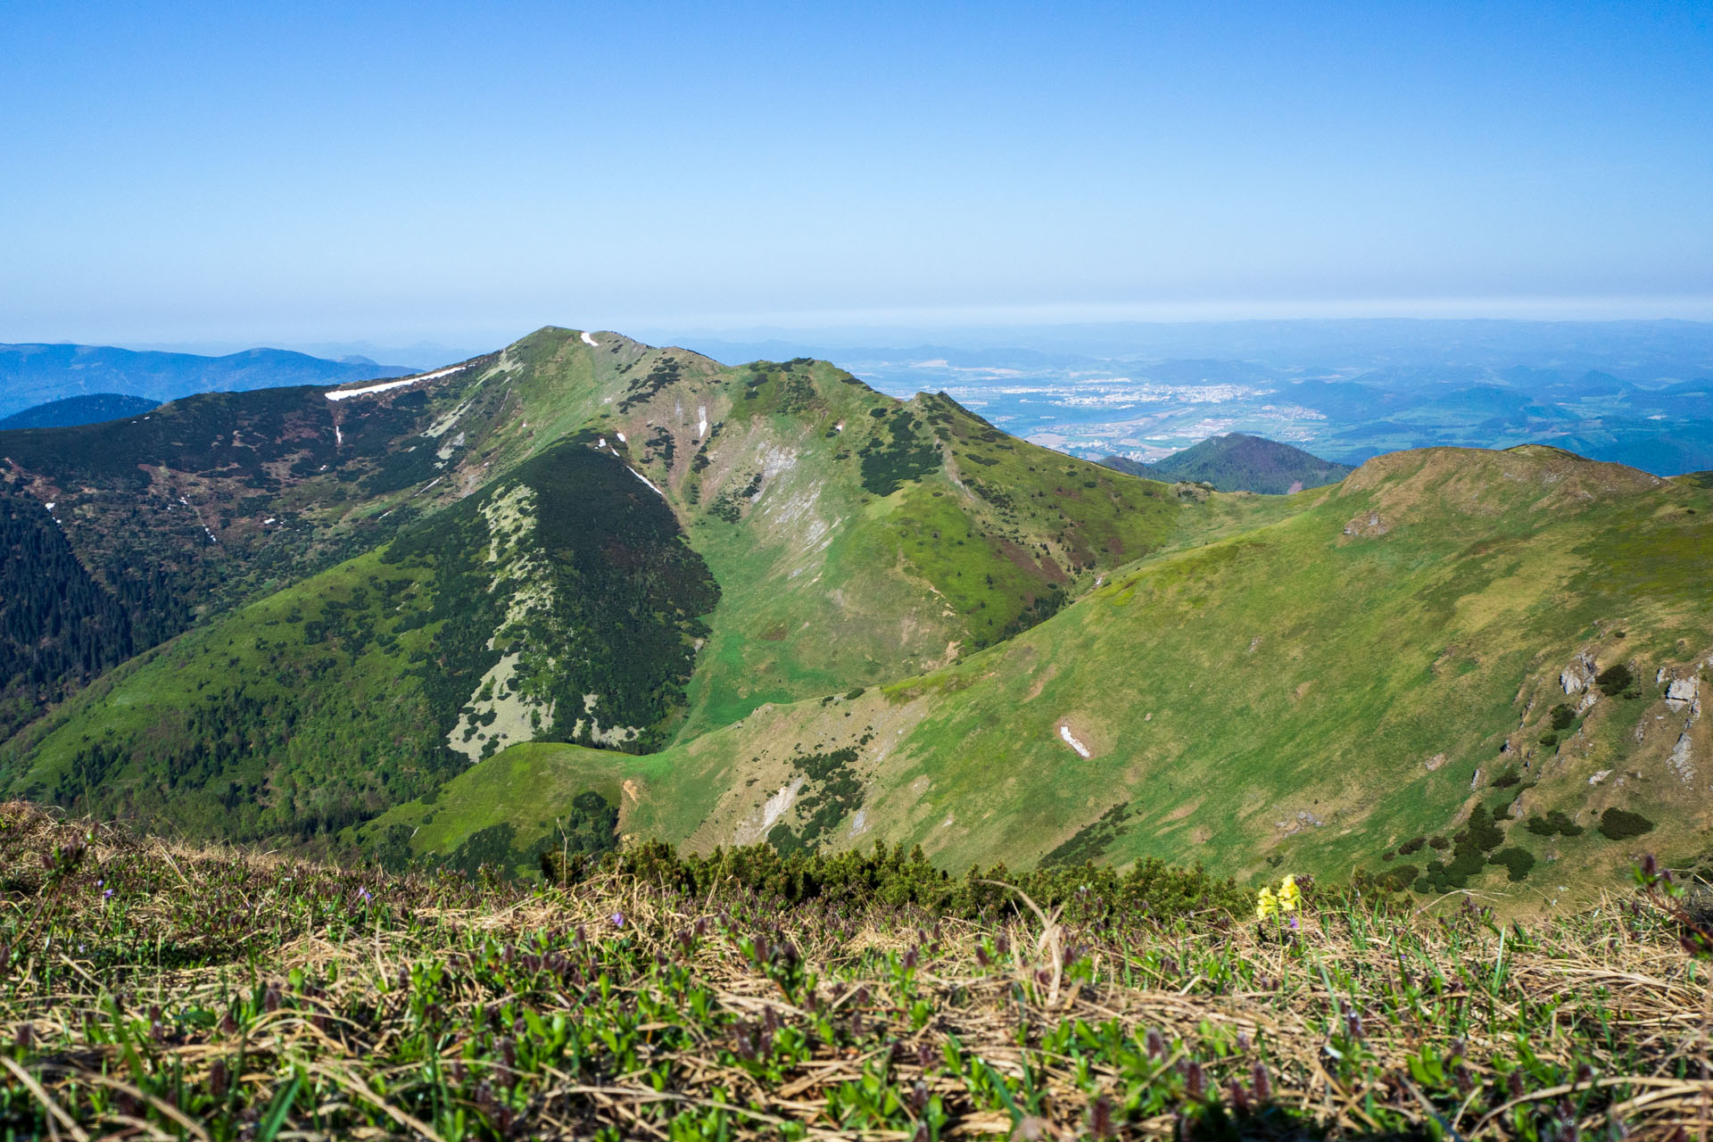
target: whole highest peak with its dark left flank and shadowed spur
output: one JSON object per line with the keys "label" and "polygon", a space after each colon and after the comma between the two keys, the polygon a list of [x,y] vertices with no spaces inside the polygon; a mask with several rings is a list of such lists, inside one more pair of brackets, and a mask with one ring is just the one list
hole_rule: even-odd
{"label": "whole highest peak with its dark left flank and shadowed spur", "polygon": [[62,623],[75,669],[31,675],[14,709],[142,657],[0,750],[0,784],[214,836],[307,839],[504,745],[658,750],[916,673],[1185,519],[1230,524],[944,397],[560,329],[415,378],[3,443],[38,509],[19,519],[70,550],[36,543],[43,582],[94,587]]}

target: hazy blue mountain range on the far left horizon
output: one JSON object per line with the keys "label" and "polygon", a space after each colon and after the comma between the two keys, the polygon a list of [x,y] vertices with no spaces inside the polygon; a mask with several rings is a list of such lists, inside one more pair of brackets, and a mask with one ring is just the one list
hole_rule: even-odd
{"label": "hazy blue mountain range on the far left horizon", "polygon": [[159,402],[195,392],[343,385],[413,372],[367,358],[329,361],[288,349],[199,356],[87,344],[0,344],[0,416],[65,397],[127,396]]}

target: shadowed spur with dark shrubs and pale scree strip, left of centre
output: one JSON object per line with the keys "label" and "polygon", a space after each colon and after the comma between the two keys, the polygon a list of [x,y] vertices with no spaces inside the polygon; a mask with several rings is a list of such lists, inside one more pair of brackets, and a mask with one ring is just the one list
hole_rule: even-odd
{"label": "shadowed spur with dark shrubs and pale scree strip, left of centre", "polygon": [[15,786],[154,827],[310,839],[510,741],[665,745],[718,589],[660,497],[567,440],[128,664]]}

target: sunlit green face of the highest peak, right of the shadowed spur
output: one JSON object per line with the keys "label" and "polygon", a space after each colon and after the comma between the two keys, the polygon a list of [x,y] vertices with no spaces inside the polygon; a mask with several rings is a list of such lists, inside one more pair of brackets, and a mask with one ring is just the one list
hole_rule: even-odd
{"label": "sunlit green face of the highest peak, right of the shadowed spur", "polygon": [[[999,433],[947,397],[886,397],[821,361],[726,368],[545,329],[516,447],[593,428],[683,520],[721,586],[683,736],[988,645],[1167,541],[1179,500]],[[502,462],[504,455],[495,462]]]}

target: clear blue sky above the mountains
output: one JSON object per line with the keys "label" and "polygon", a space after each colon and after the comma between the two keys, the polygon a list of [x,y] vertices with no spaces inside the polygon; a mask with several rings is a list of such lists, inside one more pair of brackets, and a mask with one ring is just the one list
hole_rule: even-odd
{"label": "clear blue sky above the mountains", "polygon": [[0,5],[0,341],[1713,318],[1713,3]]}

